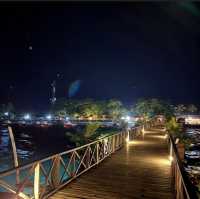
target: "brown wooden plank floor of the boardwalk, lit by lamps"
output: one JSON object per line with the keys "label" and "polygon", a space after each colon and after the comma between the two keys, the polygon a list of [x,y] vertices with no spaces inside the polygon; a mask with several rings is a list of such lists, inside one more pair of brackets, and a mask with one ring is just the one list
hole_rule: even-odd
{"label": "brown wooden plank floor of the boardwalk, lit by lamps", "polygon": [[147,131],[50,198],[174,198],[163,132]]}

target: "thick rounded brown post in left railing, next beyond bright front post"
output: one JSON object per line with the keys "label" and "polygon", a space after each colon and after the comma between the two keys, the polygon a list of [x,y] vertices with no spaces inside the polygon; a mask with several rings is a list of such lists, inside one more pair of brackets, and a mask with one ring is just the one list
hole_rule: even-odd
{"label": "thick rounded brown post in left railing, next beyond bright front post", "polygon": [[51,171],[51,182],[54,187],[58,187],[60,182],[60,156],[54,158],[54,164]]}

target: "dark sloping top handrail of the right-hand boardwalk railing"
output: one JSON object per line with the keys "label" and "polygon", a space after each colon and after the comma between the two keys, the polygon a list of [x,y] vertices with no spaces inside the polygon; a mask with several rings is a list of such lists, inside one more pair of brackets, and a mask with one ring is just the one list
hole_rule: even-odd
{"label": "dark sloping top handrail of the right-hand boardwalk railing", "polygon": [[183,164],[180,160],[180,157],[179,157],[179,154],[178,154],[178,151],[177,151],[177,147],[176,147],[176,144],[174,143],[174,139],[173,139],[173,136],[171,135],[171,133],[169,133],[169,139],[170,139],[170,142],[172,144],[173,152],[175,154],[175,160],[173,160],[173,161],[175,161],[175,163],[178,166],[178,170],[180,172],[181,181],[183,183],[183,187],[184,187],[187,199],[198,199],[196,191],[192,188],[191,181],[186,176],[185,169],[184,169]]}

